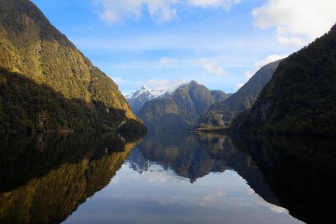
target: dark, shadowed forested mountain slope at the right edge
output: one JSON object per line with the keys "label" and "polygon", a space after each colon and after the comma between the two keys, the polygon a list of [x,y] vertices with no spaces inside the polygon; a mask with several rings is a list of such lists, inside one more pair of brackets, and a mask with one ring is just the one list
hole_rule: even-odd
{"label": "dark, shadowed forested mountain slope at the right edge", "polygon": [[336,25],[279,65],[239,132],[336,134]]}

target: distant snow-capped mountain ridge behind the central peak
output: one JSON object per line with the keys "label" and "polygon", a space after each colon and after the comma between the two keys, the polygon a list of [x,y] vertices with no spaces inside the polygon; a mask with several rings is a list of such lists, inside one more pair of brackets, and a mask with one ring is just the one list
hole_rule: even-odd
{"label": "distant snow-capped mountain ridge behind the central peak", "polygon": [[165,87],[158,87],[153,90],[149,89],[145,85],[141,87],[140,90],[132,92],[131,94],[126,96],[127,101],[129,102],[132,111],[134,113],[138,113],[142,106],[146,104],[146,102],[153,99],[160,99],[162,97],[169,97],[178,87],[186,84],[185,81],[168,84]]}

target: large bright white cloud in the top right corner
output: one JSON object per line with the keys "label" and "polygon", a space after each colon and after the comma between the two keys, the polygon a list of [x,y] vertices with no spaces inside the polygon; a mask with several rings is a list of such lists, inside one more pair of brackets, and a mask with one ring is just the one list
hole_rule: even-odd
{"label": "large bright white cloud in the top right corner", "polygon": [[335,0],[268,0],[252,15],[256,27],[276,29],[279,43],[302,46],[329,31],[335,12]]}

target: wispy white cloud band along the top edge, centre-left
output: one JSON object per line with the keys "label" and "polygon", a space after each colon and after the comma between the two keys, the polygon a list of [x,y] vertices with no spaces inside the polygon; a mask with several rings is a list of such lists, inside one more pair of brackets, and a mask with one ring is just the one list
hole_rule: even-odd
{"label": "wispy white cloud band along the top edge, centre-left", "polygon": [[148,13],[155,22],[169,22],[178,18],[178,5],[202,8],[223,8],[228,10],[240,0],[92,0],[96,6],[102,6],[100,18],[107,24],[120,22],[124,18],[139,19]]}

